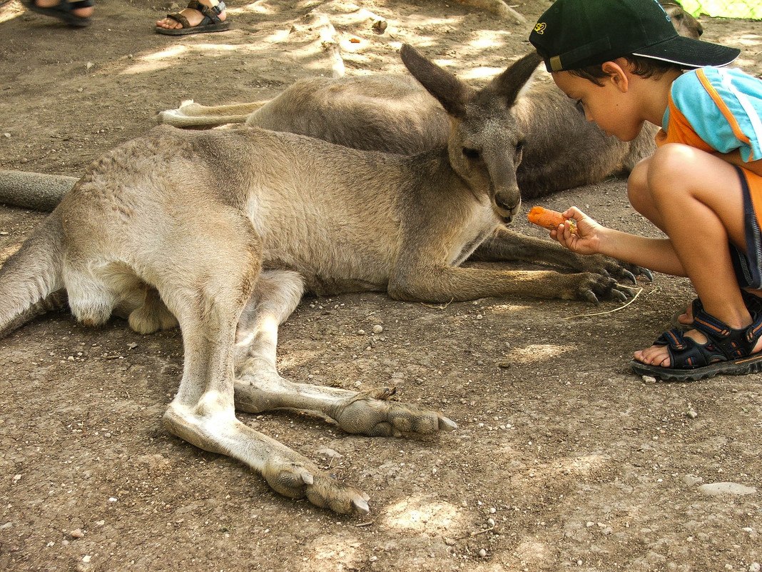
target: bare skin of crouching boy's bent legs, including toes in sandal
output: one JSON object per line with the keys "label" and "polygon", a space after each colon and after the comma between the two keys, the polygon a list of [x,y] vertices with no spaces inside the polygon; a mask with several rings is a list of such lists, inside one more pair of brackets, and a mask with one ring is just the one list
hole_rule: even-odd
{"label": "bare skin of crouching boy's bent legs, including toes in sandal", "polygon": [[[630,200],[671,239],[706,313],[742,328],[751,324],[733,272],[728,241],[745,251],[744,205],[738,174],[728,162],[680,144],[661,147],[630,182]],[[706,337],[686,333],[699,343]],[[754,352],[762,350],[762,339]],[[648,365],[670,365],[667,347],[635,353]]]}

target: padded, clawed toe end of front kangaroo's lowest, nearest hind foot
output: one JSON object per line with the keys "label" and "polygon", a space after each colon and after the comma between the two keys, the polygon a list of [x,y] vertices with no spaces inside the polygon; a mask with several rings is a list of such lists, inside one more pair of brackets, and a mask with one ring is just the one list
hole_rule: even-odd
{"label": "padded, clawed toe end of front kangaroo's lowest, nearest hind foot", "polygon": [[310,503],[335,513],[367,513],[367,494],[321,471],[306,459],[284,461],[271,458],[262,471],[267,483],[283,496],[306,497]]}

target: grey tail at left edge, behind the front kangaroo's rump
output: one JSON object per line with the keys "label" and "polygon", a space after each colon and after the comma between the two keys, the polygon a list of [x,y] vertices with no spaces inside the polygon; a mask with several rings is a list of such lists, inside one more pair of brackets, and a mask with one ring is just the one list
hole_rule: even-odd
{"label": "grey tail at left edge, behind the front kangaroo's rump", "polygon": [[62,175],[0,171],[0,203],[50,212],[75,182]]}

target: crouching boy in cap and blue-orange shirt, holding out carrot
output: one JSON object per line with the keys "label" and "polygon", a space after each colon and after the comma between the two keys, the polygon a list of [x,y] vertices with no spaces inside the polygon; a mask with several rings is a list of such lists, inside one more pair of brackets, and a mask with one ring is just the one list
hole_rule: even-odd
{"label": "crouching boy in cap and blue-orange shirt, holding out carrot", "polygon": [[603,227],[575,207],[564,213],[575,232],[568,221],[551,231],[574,252],[690,278],[699,297],[680,316],[690,330],[663,333],[632,369],[677,381],[762,371],[762,81],[721,69],[740,50],[678,36],[656,0],[557,0],[530,42],[609,135],[662,127],[628,197],[667,238]]}

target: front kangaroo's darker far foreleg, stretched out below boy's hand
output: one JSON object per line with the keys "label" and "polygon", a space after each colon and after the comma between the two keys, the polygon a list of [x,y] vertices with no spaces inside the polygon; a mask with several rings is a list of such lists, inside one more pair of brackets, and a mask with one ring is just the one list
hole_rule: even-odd
{"label": "front kangaroo's darker far foreleg, stretched out below boy's hand", "polygon": [[539,239],[535,236],[517,233],[505,227],[498,227],[491,236],[479,245],[471,255],[472,260],[499,262],[501,260],[521,260],[539,262],[562,268],[571,268],[578,272],[595,272],[610,275],[616,280],[629,280],[635,283],[636,276],[653,276],[645,268],[622,262],[604,255],[580,255],[570,252],[559,243]]}

